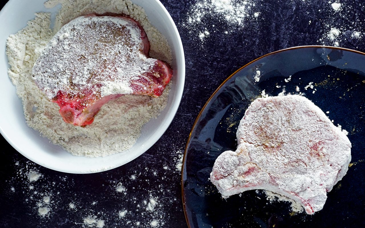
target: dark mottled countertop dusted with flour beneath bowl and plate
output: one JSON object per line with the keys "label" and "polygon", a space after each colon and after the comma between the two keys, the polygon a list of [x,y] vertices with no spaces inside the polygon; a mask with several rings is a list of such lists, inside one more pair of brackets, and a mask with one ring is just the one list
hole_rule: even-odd
{"label": "dark mottled countertop dusted with flour beneath bowl and plate", "polygon": [[[161,139],[122,167],[95,174],[66,174],[29,161],[1,137],[0,227],[87,227],[83,223],[87,216],[104,220],[107,228],[151,227],[153,220],[157,227],[187,227],[176,165],[201,108],[230,74],[272,51],[301,45],[333,46],[336,40],[327,36],[331,28],[341,31],[340,47],[365,51],[363,0],[341,1],[337,12],[322,0],[249,0],[255,6],[247,10],[251,15],[241,25],[226,23],[217,14],[188,25],[190,9],[202,1],[161,0],[180,32],[186,62],[183,99]],[[254,12],[259,12],[257,18],[252,16]],[[204,31],[210,34],[200,39]],[[354,37],[356,31],[363,35]],[[30,170],[43,176],[30,183],[25,175]],[[124,192],[115,190],[118,183]],[[44,196],[50,196],[48,204],[42,201]],[[153,210],[146,210],[151,198],[157,203]],[[38,214],[39,202],[50,208],[45,217]],[[124,210],[127,212],[120,217]]]}

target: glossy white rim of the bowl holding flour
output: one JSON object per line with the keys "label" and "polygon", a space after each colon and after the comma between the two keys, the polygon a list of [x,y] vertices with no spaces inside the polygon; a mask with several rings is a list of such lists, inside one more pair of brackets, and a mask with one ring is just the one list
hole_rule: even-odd
{"label": "glossy white rim of the bowl holding flour", "polygon": [[[4,5],[4,7],[1,9],[0,15],[7,12],[8,8],[10,7],[11,4],[13,4],[14,1],[16,1],[16,0],[9,0]],[[132,2],[134,3],[133,0],[132,0]],[[134,4],[136,4],[136,3],[134,3]],[[147,140],[143,144],[143,149],[141,149],[140,152],[138,152],[138,153],[133,152],[132,156],[130,156],[129,159],[124,159],[121,162],[115,163],[114,165],[111,165],[111,166],[103,165],[100,167],[100,169],[82,168],[82,169],[75,170],[75,169],[68,169],[68,167],[70,167],[70,166],[53,167],[52,165],[47,165],[47,163],[43,162],[44,160],[39,159],[39,156],[32,156],[32,155],[28,154],[26,151],[22,150],[17,144],[15,144],[13,142],[13,140],[11,138],[9,138],[7,133],[3,130],[3,127],[0,126],[1,135],[4,137],[5,140],[7,140],[7,142],[13,148],[15,148],[16,151],[18,151],[20,154],[22,154],[23,156],[25,156],[32,162],[35,162],[38,165],[44,166],[51,170],[60,171],[60,172],[64,172],[64,173],[73,173],[73,174],[89,174],[89,173],[98,173],[98,172],[102,172],[102,171],[107,171],[107,170],[115,169],[119,166],[125,165],[126,163],[134,160],[135,158],[137,158],[138,156],[142,155],[147,150],[149,150],[149,148],[151,148],[161,138],[161,136],[165,133],[165,131],[168,129],[168,127],[172,123],[172,120],[174,119],[174,117],[177,113],[177,110],[180,106],[180,103],[181,103],[181,99],[182,99],[183,92],[184,92],[184,85],[185,85],[185,55],[184,55],[183,43],[181,42],[180,34],[177,30],[174,20],[172,19],[171,15],[167,11],[167,9],[164,7],[164,5],[159,0],[153,0],[153,3],[150,3],[150,4],[155,4],[156,7],[160,8],[161,12],[163,12],[165,14],[165,16],[168,18],[169,30],[172,30],[172,34],[174,34],[173,39],[176,39],[176,41],[177,41],[176,45],[174,47],[176,48],[176,62],[177,62],[177,65],[180,66],[178,69],[179,70],[179,72],[178,72],[178,76],[179,76],[178,82],[179,83],[176,83],[176,90],[174,91],[174,93],[173,93],[173,91],[170,91],[170,93],[169,93],[171,95],[174,94],[174,97],[171,97],[171,98],[173,98],[174,102],[169,107],[169,109],[168,109],[169,113],[166,114],[164,121],[162,121],[158,125],[158,127],[161,128],[161,130],[154,133],[154,137],[153,137],[154,140]],[[23,106],[23,104],[22,104],[22,106]],[[27,125],[27,127],[29,127],[29,126]],[[112,156],[112,155],[108,155],[108,156]],[[106,157],[108,157],[108,156],[106,156]],[[87,157],[85,157],[85,158],[87,158]],[[101,158],[101,157],[97,157],[97,158]],[[89,159],[97,159],[97,158],[89,158]],[[78,167],[78,168],[80,168],[80,167]]]}

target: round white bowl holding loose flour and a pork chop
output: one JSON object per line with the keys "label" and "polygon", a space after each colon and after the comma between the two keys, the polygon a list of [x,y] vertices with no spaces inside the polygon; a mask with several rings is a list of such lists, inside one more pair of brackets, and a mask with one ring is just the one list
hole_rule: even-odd
{"label": "round white bowl holding loose flour and a pork chop", "polygon": [[[10,0],[0,12],[0,132],[4,138],[21,154],[33,162],[49,169],[66,173],[96,173],[110,170],[126,164],[148,150],[164,134],[175,116],[183,94],[185,81],[184,50],[177,28],[158,0],[132,0],[145,9],[151,24],[165,35],[173,54],[172,68],[174,77],[169,93],[168,105],[157,119],[152,119],[142,129],[142,135],[128,151],[100,158],[73,156],[42,138],[38,131],[28,127],[20,98],[16,95],[15,86],[11,83],[7,70],[8,59],[5,54],[6,39],[34,19],[35,12],[51,12],[57,9],[46,9],[45,0]],[[56,7],[57,8],[57,7]]]}

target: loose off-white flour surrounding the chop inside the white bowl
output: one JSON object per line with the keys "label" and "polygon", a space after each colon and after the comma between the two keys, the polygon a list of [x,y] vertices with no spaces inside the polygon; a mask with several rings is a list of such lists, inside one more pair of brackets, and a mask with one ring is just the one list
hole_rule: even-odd
{"label": "loose off-white flour surrounding the chop inside the white bowl", "polygon": [[131,148],[141,135],[142,126],[156,118],[166,107],[170,86],[158,98],[126,95],[105,104],[95,121],[87,127],[67,124],[59,115],[57,104],[49,101],[32,79],[35,60],[53,35],[70,20],[89,13],[123,13],[137,20],[146,31],[153,58],[172,61],[166,38],[153,27],[145,13],[130,0],[50,0],[47,8],[61,3],[53,30],[50,29],[50,13],[36,13],[27,27],[7,40],[7,56],[11,68],[9,77],[23,101],[24,116],[28,126],[43,137],[63,147],[73,155],[107,156]]}

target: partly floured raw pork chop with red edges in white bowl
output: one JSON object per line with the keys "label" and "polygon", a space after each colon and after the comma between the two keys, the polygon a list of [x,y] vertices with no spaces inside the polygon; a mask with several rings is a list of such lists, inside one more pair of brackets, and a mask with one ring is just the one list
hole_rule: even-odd
{"label": "partly floured raw pork chop with red edges in white bowl", "polygon": [[66,123],[85,126],[113,98],[162,94],[172,69],[149,58],[149,49],[145,31],[127,16],[81,16],[51,39],[33,78]]}

